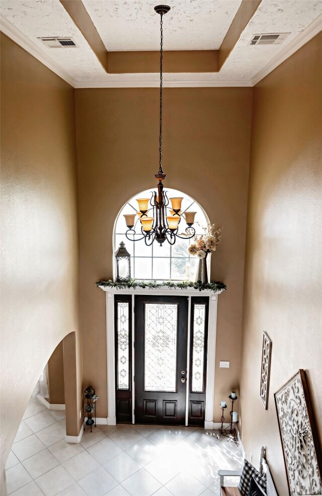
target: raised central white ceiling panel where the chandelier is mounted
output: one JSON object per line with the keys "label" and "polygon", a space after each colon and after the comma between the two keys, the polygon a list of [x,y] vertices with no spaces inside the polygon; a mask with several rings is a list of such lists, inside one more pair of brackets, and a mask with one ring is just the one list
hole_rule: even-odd
{"label": "raised central white ceiling panel where the chandelier is mounted", "polygon": [[[164,16],[165,50],[218,49],[241,0],[175,0]],[[83,0],[106,49],[158,50],[156,0]]]}

